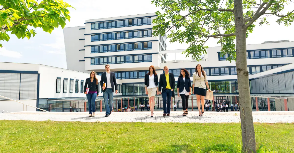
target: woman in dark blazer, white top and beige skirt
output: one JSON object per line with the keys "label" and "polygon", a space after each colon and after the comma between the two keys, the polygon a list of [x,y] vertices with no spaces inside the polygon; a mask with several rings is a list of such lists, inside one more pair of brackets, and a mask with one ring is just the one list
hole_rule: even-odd
{"label": "woman in dark blazer, white top and beige skirt", "polygon": [[155,72],[154,66],[149,66],[149,72],[145,75],[145,90],[149,97],[149,107],[151,111],[151,117],[153,117],[153,110],[155,106],[155,94],[158,92],[158,76]]}

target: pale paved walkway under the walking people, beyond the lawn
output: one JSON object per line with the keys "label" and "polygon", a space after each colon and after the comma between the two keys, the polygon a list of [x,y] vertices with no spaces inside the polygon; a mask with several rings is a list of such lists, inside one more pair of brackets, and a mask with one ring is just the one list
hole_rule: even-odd
{"label": "pale paved walkway under the walking people, beyond the lawn", "polygon": [[[240,112],[204,112],[200,117],[197,112],[182,116],[182,112],[171,112],[170,116],[162,116],[163,112],[113,112],[104,117],[105,112],[96,112],[95,117],[88,117],[87,112],[14,112],[0,113],[0,120],[31,120],[31,121],[82,121],[82,122],[195,122],[195,123],[238,123]],[[253,122],[260,123],[294,123],[294,111],[252,112]]]}

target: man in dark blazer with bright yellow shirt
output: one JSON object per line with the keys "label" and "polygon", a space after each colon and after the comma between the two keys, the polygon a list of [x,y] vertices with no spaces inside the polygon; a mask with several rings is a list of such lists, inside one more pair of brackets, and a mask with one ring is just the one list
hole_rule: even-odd
{"label": "man in dark blazer with bright yellow shirt", "polygon": [[[171,112],[171,97],[175,97],[176,81],[173,73],[168,73],[168,67],[163,67],[164,73],[159,77],[159,94],[162,94],[163,116],[169,116]],[[162,87],[162,90],[161,90]],[[167,106],[166,106],[167,103]]]}

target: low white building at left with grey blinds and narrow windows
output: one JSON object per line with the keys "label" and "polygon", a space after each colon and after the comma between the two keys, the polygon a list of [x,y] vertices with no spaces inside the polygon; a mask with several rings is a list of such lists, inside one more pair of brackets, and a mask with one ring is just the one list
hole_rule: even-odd
{"label": "low white building at left with grey blinds and narrow windows", "polygon": [[[24,109],[36,111],[34,107],[46,111],[86,111],[87,109],[88,104],[83,89],[90,72],[84,73],[41,64],[5,62],[0,62],[0,68],[0,95],[23,103],[0,97],[0,112],[25,111]],[[96,75],[96,77],[100,81],[101,76]],[[117,79],[117,84],[121,85],[122,80]],[[121,90],[119,91],[114,95],[122,95]],[[99,99],[103,99],[101,93],[97,101],[100,101]]]}

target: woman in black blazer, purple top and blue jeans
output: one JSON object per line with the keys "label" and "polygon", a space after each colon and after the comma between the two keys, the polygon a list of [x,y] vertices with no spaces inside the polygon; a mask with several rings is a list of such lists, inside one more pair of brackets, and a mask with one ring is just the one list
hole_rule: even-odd
{"label": "woman in black blazer, purple top and blue jeans", "polygon": [[[96,73],[92,71],[90,73],[90,78],[86,79],[85,86],[84,86],[84,93],[87,96],[88,99],[88,105],[89,105],[89,117],[95,116],[95,110],[96,110],[96,97],[98,97],[98,79],[96,78]],[[86,88],[89,88],[89,92],[86,92]],[[86,106],[85,106],[86,107]]]}

